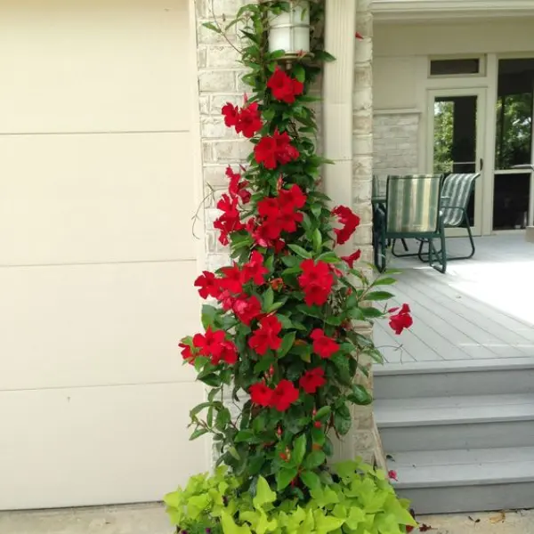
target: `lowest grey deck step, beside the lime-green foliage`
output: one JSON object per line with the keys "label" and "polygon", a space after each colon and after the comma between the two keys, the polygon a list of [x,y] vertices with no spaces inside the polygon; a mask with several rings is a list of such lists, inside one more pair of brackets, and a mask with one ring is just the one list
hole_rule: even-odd
{"label": "lowest grey deck step, beside the lime-green foliage", "polygon": [[527,508],[534,502],[534,447],[392,453],[389,468],[417,514]]}

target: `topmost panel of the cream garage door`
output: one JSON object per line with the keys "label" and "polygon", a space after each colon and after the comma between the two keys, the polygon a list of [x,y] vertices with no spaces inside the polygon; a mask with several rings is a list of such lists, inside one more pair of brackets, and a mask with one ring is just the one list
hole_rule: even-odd
{"label": "topmost panel of the cream garage door", "polygon": [[186,0],[2,1],[0,132],[188,130],[187,11]]}

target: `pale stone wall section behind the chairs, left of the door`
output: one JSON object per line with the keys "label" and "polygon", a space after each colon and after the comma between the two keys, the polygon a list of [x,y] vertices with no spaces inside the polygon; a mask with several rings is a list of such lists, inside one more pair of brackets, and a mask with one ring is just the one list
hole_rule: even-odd
{"label": "pale stone wall section behind the chairs, left of the door", "polygon": [[374,143],[376,174],[418,172],[418,113],[376,113]]}

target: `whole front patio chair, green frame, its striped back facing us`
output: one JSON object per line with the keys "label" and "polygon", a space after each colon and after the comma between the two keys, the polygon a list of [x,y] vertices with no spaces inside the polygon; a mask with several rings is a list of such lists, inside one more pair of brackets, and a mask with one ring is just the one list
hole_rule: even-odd
{"label": "whole front patio chair, green frame, its striped back facing us", "polygon": [[[392,240],[392,254],[397,257],[420,255],[398,254],[395,245],[399,239],[418,239],[428,243],[428,263],[436,271],[447,270],[447,247],[441,217],[442,174],[409,174],[388,176],[385,211],[376,210],[375,263],[379,271],[385,271],[386,248]],[[434,246],[439,239],[441,249]]]}

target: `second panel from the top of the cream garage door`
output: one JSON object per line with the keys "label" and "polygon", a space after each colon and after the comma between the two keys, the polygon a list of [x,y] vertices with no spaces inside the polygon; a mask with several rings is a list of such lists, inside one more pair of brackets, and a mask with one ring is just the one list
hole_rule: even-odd
{"label": "second panel from the top of the cream garage door", "polygon": [[192,259],[189,134],[0,136],[0,265]]}

